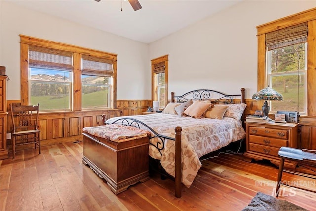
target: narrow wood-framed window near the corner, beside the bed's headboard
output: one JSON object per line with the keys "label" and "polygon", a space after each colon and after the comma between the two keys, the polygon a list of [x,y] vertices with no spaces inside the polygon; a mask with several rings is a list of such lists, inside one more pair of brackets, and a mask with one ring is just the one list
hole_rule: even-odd
{"label": "narrow wood-framed window near the corner, beside the bed's headboard", "polygon": [[163,109],[168,103],[168,55],[152,61],[152,100],[159,101]]}

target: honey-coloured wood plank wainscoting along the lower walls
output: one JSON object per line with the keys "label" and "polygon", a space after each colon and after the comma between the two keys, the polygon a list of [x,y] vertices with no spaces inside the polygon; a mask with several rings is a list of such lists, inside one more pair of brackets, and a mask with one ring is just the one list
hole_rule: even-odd
{"label": "honey-coloured wood plank wainscoting along the lower walls", "polygon": [[[10,103],[20,103],[20,101],[8,100],[7,111],[10,111]],[[102,114],[106,114],[107,119],[117,116],[141,115],[151,104],[151,100],[117,100],[117,108],[113,110],[42,113],[39,117],[42,145],[81,141],[82,128],[102,125]],[[246,99],[246,104],[244,116],[254,114],[255,110],[261,110],[262,101]],[[274,119],[274,115],[269,117]],[[7,126],[7,132],[10,133],[12,130],[10,116],[7,118]],[[316,149],[316,117],[300,117],[299,128],[301,148]],[[11,146],[10,142],[8,146]]]}

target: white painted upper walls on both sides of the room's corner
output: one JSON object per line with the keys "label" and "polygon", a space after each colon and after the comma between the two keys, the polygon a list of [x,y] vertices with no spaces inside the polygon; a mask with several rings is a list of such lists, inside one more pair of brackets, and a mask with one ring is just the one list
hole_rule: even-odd
{"label": "white painted upper walls on both sides of the room's corner", "polygon": [[245,0],[148,45],[0,0],[8,100],[20,99],[19,34],[118,54],[117,99],[151,99],[150,60],[166,54],[169,92],[238,94],[244,87],[251,98],[257,91],[256,26],[314,7],[316,0]]}

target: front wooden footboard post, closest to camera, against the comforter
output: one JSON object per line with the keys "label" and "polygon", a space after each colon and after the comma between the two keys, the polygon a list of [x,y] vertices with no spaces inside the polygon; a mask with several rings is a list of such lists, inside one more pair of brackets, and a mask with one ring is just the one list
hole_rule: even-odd
{"label": "front wooden footboard post, closest to camera, against the comforter", "polygon": [[181,197],[182,161],[181,161],[181,131],[180,126],[175,127],[175,196]]}

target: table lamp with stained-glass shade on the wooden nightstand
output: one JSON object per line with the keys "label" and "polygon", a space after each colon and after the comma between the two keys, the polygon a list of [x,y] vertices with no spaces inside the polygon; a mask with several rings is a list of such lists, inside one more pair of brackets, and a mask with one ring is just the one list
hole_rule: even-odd
{"label": "table lamp with stained-glass shade on the wooden nightstand", "polygon": [[273,90],[271,87],[266,87],[264,89],[261,89],[254,95],[252,95],[253,100],[264,100],[264,104],[262,106],[262,114],[263,116],[268,116],[270,107],[267,103],[267,100],[276,100],[276,101],[282,101],[283,95],[278,93],[277,91]]}

